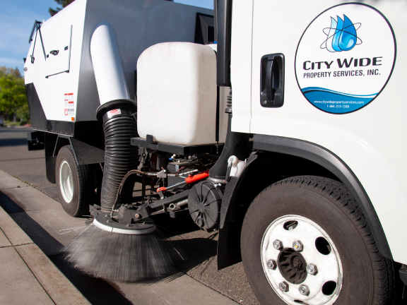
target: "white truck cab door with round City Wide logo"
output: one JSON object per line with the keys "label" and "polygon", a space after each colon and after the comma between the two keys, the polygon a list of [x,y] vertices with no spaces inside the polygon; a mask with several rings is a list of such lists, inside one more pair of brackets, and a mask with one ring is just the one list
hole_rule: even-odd
{"label": "white truck cab door with round City Wide logo", "polygon": [[[407,213],[406,13],[402,1],[253,0],[252,14],[250,133],[305,140],[341,158],[399,262],[407,249],[399,248],[395,225]],[[277,105],[271,101],[279,82],[261,84],[262,74],[281,77],[281,67],[267,70],[273,54],[284,59]]]}

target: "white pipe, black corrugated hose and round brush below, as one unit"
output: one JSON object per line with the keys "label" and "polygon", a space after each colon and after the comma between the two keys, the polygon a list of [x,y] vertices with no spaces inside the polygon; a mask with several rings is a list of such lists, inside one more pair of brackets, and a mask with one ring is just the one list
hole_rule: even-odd
{"label": "white pipe, black corrugated hose and round brush below, as one unit", "polygon": [[[119,47],[112,25],[100,23],[90,42],[98,85],[97,111],[105,133],[105,167],[101,205],[91,209],[95,220],[65,247],[67,259],[85,273],[134,282],[171,272],[172,249],[158,232],[148,206],[134,208],[131,196],[138,166],[136,102],[129,99]],[[116,206],[119,207],[116,210]]]}

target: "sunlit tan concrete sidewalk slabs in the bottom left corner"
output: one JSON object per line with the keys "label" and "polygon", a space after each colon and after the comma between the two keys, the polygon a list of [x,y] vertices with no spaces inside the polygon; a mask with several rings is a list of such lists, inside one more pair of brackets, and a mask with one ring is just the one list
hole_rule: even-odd
{"label": "sunlit tan concrete sidewalk slabs in the bottom left corner", "polygon": [[[0,183],[28,186],[4,172]],[[1,207],[0,270],[0,304],[90,304]]]}

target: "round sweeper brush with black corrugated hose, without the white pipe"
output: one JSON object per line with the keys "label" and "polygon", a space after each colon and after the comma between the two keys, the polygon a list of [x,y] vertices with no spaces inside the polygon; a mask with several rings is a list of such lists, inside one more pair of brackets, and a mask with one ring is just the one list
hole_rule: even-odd
{"label": "round sweeper brush with black corrugated hose, without the white pipe", "polygon": [[174,261],[171,245],[148,218],[148,205],[123,204],[131,202],[134,187],[134,175],[128,173],[138,172],[133,161],[137,152],[130,145],[137,134],[133,112],[134,102],[127,100],[98,109],[105,131],[101,206],[91,208],[93,224],[64,249],[68,260],[85,273],[125,282],[167,275]]}

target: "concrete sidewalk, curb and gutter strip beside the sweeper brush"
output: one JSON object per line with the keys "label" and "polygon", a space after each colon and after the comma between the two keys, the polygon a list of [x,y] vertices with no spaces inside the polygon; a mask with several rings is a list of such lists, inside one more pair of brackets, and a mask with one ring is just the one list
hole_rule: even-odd
{"label": "concrete sidewalk, curb and gutter strip beside the sweeper brush", "polygon": [[183,273],[151,283],[112,282],[81,273],[60,250],[90,220],[67,215],[59,202],[1,170],[0,206],[0,305],[237,304]]}

